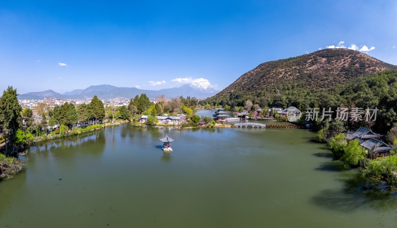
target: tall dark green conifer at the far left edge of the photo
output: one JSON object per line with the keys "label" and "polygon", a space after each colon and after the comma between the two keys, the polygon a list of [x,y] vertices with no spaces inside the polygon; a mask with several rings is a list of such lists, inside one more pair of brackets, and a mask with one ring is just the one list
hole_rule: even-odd
{"label": "tall dark green conifer at the far left edge of the photo", "polygon": [[[16,89],[8,86],[0,98],[0,132],[5,132],[11,144],[10,136],[22,126],[22,117],[20,115],[22,108],[18,103],[17,96]],[[8,152],[7,141],[5,142],[5,151]]]}

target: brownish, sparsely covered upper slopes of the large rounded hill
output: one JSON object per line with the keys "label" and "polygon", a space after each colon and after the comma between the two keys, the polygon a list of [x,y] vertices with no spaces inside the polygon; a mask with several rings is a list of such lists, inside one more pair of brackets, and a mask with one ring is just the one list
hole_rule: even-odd
{"label": "brownish, sparsely covered upper slopes of the large rounded hill", "polygon": [[249,94],[264,89],[277,91],[284,87],[324,89],[389,69],[397,69],[397,66],[350,49],[324,49],[263,63],[240,76],[214,97],[233,91]]}

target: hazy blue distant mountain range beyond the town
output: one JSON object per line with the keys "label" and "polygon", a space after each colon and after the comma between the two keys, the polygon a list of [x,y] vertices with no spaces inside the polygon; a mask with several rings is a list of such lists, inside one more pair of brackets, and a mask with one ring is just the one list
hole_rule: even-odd
{"label": "hazy blue distant mountain range beyond the town", "polygon": [[41,92],[28,92],[20,94],[19,100],[41,100],[46,97],[59,98],[59,99],[89,99],[98,96],[100,99],[112,99],[116,97],[133,98],[135,95],[145,93],[149,98],[155,98],[159,95],[165,95],[167,98],[174,98],[179,96],[190,96],[196,98],[207,98],[215,95],[219,90],[212,87],[199,87],[194,84],[185,84],[180,87],[160,89],[160,90],[145,90],[135,87],[117,87],[113,85],[92,85],[85,89],[74,89],[70,92],[63,94],[57,93],[53,90],[46,90]]}

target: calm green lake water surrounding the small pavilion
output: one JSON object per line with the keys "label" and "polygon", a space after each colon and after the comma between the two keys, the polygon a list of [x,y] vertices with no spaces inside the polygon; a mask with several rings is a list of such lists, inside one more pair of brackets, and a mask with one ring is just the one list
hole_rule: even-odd
{"label": "calm green lake water surrounding the small pavilion", "polygon": [[[163,153],[168,136],[173,152]],[[396,227],[396,196],[302,129],[108,127],[27,150],[4,227]]]}

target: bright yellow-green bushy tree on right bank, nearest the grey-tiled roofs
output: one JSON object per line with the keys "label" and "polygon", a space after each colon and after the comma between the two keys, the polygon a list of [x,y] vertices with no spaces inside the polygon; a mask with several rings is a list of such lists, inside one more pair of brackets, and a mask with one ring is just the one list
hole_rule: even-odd
{"label": "bright yellow-green bushy tree on right bank, nearest the grey-tiled roofs", "polygon": [[358,140],[352,140],[344,150],[344,154],[340,157],[341,161],[344,161],[344,166],[356,167],[360,165],[360,162],[365,158],[365,150],[360,145]]}

